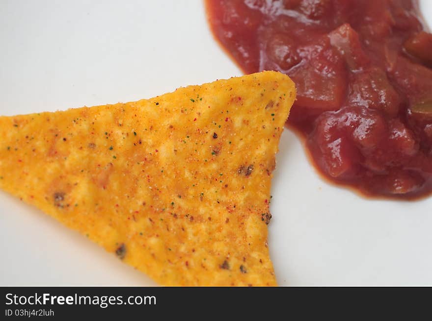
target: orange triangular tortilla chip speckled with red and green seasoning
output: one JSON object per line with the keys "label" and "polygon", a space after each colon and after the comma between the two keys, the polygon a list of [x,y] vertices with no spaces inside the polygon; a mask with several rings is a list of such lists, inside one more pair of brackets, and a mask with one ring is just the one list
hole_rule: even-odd
{"label": "orange triangular tortilla chip speckled with red and green seasoning", "polygon": [[0,117],[0,187],[163,285],[276,285],[270,179],[294,99],[263,72]]}

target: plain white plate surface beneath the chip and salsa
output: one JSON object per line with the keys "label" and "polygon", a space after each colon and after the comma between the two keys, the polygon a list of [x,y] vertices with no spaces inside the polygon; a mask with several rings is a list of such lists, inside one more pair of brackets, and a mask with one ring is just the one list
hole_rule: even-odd
{"label": "plain white plate surface beneath the chip and salsa", "polygon": [[[432,23],[432,1],[423,0]],[[201,0],[0,2],[0,115],[150,98],[241,75]],[[432,285],[432,198],[368,200],[330,186],[285,130],[272,185],[280,285]],[[155,285],[0,193],[0,285]]]}

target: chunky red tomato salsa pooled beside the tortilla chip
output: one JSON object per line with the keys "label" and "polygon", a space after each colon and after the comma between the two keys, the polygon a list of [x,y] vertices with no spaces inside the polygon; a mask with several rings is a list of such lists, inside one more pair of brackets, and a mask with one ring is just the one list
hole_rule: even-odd
{"label": "chunky red tomato salsa pooled beside the tortilla chip", "polygon": [[289,125],[318,169],[370,196],[432,191],[432,35],[413,0],[207,0],[245,73],[297,85]]}

